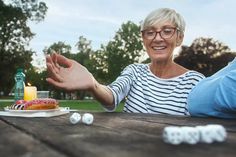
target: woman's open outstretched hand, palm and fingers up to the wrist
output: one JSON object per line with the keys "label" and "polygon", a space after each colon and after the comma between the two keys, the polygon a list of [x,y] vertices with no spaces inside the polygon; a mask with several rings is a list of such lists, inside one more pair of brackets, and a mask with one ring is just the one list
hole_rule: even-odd
{"label": "woman's open outstretched hand, palm and fingers up to the wrist", "polygon": [[95,79],[92,74],[78,62],[60,54],[53,53],[46,57],[50,84],[65,90],[93,90]]}

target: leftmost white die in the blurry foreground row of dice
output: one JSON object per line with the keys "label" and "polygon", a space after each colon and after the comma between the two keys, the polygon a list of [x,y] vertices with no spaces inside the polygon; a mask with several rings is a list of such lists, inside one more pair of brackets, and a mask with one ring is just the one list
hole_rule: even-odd
{"label": "leftmost white die in the blurry foreground row of dice", "polygon": [[180,127],[165,127],[163,131],[163,140],[166,143],[178,145],[183,142],[183,132]]}

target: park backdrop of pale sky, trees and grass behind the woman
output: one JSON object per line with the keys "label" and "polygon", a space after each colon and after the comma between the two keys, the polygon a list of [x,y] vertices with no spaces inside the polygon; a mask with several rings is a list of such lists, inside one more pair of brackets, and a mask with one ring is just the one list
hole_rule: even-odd
{"label": "park backdrop of pale sky, trees and grass behind the woman", "polygon": [[26,84],[50,91],[62,105],[102,110],[86,91],[50,86],[45,81],[45,55],[61,53],[109,84],[127,65],[149,62],[140,22],[159,7],[186,16],[185,40],[175,61],[210,76],[235,57],[233,4],[233,0],[0,0],[0,105],[12,103],[3,100],[12,100],[14,74],[23,68]]}

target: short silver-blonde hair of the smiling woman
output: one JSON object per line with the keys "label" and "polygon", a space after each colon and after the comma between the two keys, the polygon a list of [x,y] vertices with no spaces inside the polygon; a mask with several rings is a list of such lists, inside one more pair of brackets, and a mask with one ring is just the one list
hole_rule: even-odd
{"label": "short silver-blonde hair of the smiling woman", "polygon": [[170,21],[176,27],[179,28],[181,33],[185,31],[185,21],[184,18],[173,9],[160,8],[152,11],[147,15],[144,21],[141,23],[141,31],[152,27],[158,23],[163,23]]}

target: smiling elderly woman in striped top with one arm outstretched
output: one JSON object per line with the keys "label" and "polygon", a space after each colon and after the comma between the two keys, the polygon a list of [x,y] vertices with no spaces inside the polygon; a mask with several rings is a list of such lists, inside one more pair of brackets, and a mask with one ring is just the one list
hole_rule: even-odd
{"label": "smiling elderly woman in striped top with one arm outstretched", "polygon": [[47,56],[47,81],[65,90],[88,90],[108,111],[124,99],[124,112],[189,115],[187,97],[204,78],[173,61],[184,38],[185,22],[172,9],[158,9],[143,21],[141,34],[149,64],[132,64],[110,85],[102,85],[74,60]]}

